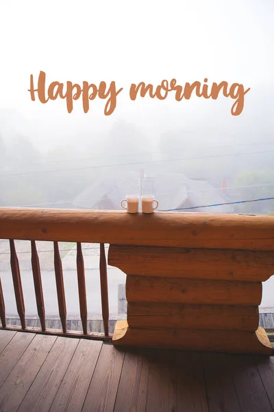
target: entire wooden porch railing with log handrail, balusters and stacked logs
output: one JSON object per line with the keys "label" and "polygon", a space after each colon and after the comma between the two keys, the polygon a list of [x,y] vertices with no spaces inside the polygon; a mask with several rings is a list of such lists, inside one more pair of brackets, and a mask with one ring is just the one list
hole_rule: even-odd
{"label": "entire wooden porch railing with log handrail, balusters and stacked logs", "polygon": [[[262,282],[274,273],[274,216],[127,214],[124,211],[0,209],[0,238],[10,239],[14,294],[21,326],[25,309],[14,239],[32,242],[36,304],[45,329],[45,308],[36,240],[54,245],[55,280],[62,331],[66,299],[58,242],[77,242],[77,280],[82,336],[110,338],[108,264],[127,274],[127,321],[118,321],[114,345],[269,354],[258,328]],[[101,306],[105,334],[87,331],[82,242],[100,244]],[[0,317],[5,306],[0,283]]]}

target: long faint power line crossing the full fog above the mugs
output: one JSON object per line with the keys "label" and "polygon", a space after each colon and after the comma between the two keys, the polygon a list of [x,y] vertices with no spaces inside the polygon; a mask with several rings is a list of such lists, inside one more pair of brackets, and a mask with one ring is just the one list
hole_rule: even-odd
{"label": "long faint power line crossing the full fog above the mugs", "polygon": [[274,150],[263,150],[262,152],[243,152],[243,153],[230,153],[226,155],[210,155],[210,156],[200,156],[200,157],[181,157],[177,159],[162,159],[162,160],[151,160],[151,161],[137,161],[132,163],[116,163],[112,165],[101,165],[101,166],[86,166],[84,168],[71,168],[71,169],[59,169],[59,170],[40,170],[39,172],[25,172],[25,173],[11,173],[11,174],[0,174],[0,177],[9,176],[29,176],[33,174],[47,174],[55,172],[75,172],[77,170],[90,170],[90,169],[103,169],[103,168],[115,168],[116,166],[128,166],[128,165],[144,165],[151,163],[167,163],[170,161],[182,161],[182,160],[197,160],[197,159],[216,159],[220,157],[233,157],[233,156],[245,156],[245,155],[260,155],[263,153],[271,153]]}

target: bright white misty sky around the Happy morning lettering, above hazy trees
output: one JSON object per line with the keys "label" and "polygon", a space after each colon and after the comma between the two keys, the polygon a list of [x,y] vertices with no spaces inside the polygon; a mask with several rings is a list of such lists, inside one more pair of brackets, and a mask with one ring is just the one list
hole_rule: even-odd
{"label": "bright white misty sky around the Happy morning lettering, above hazy trees", "polygon": [[[152,144],[159,133],[176,128],[271,132],[273,17],[271,0],[2,1],[1,122],[40,148],[84,144],[86,132],[96,147],[100,133],[118,119],[138,124]],[[30,100],[29,76],[37,79],[40,70],[48,84],[115,80],[124,90],[109,117],[99,99],[86,115],[78,100],[69,115],[63,100]],[[240,116],[230,114],[229,98],[129,100],[132,82],[176,78],[184,84],[205,77],[251,87]]]}

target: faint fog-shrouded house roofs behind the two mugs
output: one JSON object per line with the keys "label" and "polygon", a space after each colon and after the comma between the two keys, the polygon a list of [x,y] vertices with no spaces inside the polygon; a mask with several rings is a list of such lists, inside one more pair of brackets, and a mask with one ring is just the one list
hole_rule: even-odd
{"label": "faint fog-shrouded house roofs behind the two mugs", "polygon": [[[121,210],[127,194],[153,194],[158,210],[184,209],[199,213],[232,213],[233,205],[224,190],[216,189],[206,180],[188,179],[184,174],[147,176],[145,172],[128,173],[104,179],[88,187],[73,201],[73,207],[95,210]],[[207,205],[219,205],[206,207]],[[195,207],[195,209],[187,209]]]}

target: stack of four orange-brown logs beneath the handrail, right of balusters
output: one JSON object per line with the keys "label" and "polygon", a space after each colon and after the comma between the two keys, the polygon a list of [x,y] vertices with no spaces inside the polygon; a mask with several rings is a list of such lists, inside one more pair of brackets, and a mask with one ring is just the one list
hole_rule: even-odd
{"label": "stack of four orange-brown logs beneath the handrail, right of balusters", "polygon": [[258,306],[273,252],[112,244],[108,263],[127,274],[114,345],[271,354]]}

